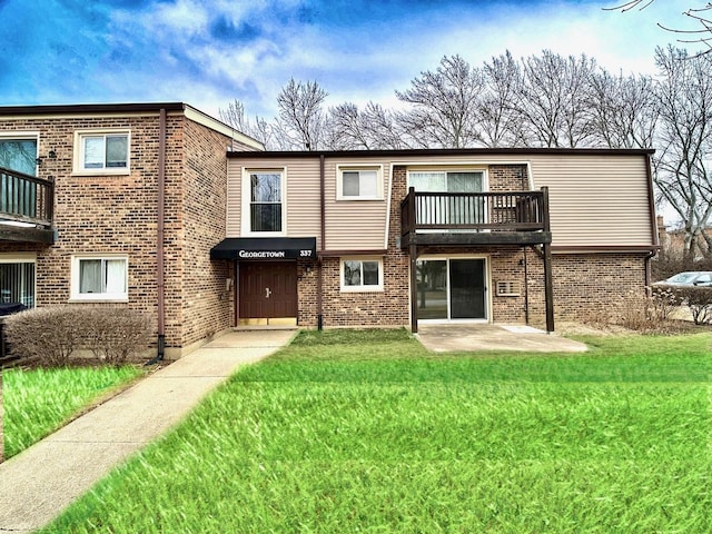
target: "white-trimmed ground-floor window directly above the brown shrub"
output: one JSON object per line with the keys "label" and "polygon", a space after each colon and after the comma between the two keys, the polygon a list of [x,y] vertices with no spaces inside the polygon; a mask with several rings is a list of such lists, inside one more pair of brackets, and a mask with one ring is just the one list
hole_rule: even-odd
{"label": "white-trimmed ground-floor window directly above the brown shrub", "polygon": [[75,256],[71,270],[72,300],[128,300],[126,256]]}

